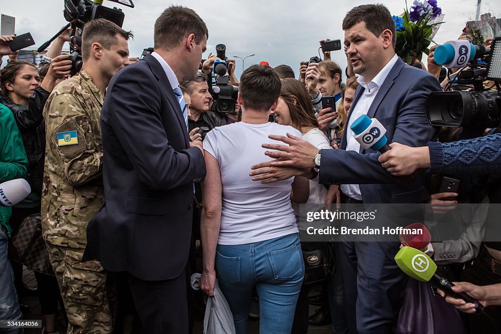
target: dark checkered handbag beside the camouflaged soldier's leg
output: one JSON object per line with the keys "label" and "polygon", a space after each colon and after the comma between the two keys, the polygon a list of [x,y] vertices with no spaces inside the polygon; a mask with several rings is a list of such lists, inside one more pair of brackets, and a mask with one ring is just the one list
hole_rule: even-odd
{"label": "dark checkered handbag beside the camouflaged soldier's leg", "polygon": [[32,270],[54,275],[47,246],[42,238],[40,214],[31,214],[23,220],[9,244],[9,258]]}

